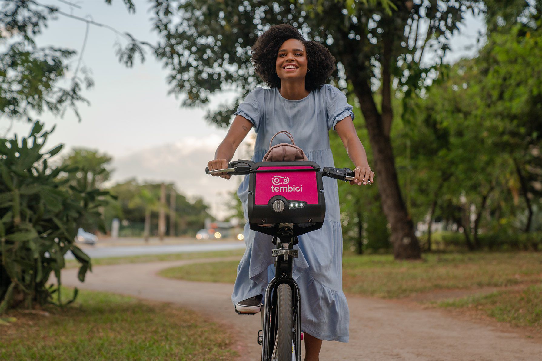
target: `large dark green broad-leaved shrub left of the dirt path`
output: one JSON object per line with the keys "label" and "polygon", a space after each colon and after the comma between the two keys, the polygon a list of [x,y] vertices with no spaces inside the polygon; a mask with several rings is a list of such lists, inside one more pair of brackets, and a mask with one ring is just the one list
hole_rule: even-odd
{"label": "large dark green broad-leaved shrub left of the dirt path", "polygon": [[[42,153],[53,132],[42,128],[35,122],[21,142],[17,135],[0,139],[0,312],[23,301],[28,307],[53,303],[55,292],[62,305],[64,254],[71,251],[80,262],[81,281],[91,269],[91,259],[74,244],[78,226],[90,221],[104,228],[98,207],[108,192],[89,188],[84,181],[70,184],[66,174],[77,173],[77,168],[49,167],[48,160],[62,145]],[[51,272],[56,287],[46,287]]]}

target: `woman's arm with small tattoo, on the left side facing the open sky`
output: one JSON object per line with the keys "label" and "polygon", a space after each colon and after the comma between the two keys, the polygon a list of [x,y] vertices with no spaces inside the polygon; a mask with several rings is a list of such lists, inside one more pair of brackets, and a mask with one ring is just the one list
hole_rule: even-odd
{"label": "woman's arm with small tattoo, on the left side facing the open sky", "polygon": [[[220,143],[215,152],[215,160],[207,163],[209,169],[224,169],[228,168],[228,162],[234,156],[235,150],[241,144],[244,137],[247,136],[250,128],[252,128],[252,123],[241,115],[236,115],[234,122],[231,123],[228,134]],[[221,176],[225,179],[230,179],[230,174],[217,173],[213,176]]]}

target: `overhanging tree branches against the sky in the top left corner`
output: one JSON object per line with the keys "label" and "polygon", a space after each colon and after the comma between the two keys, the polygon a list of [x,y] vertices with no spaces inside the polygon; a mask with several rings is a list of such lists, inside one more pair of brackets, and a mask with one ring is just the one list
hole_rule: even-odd
{"label": "overhanging tree branches against the sky in the top left corner", "polygon": [[[111,4],[112,0],[105,0]],[[131,0],[123,0],[129,12],[135,11]],[[88,101],[81,94],[83,87],[93,86],[88,69],[81,67],[80,54],[75,67],[69,63],[77,55],[73,49],[53,45],[37,47],[34,37],[41,34],[47,24],[57,16],[76,18],[87,23],[106,27],[126,39],[125,47],[117,43],[119,61],[127,67],[135,57],[144,60],[143,47],[154,49],[151,44],[140,42],[128,33],[105,24],[62,12],[55,5],[43,5],[34,0],[7,0],[0,9],[0,41],[7,45],[0,52],[0,117],[32,122],[35,115],[50,111],[62,116],[68,109],[81,120],[78,106]],[[84,46],[83,46],[84,49]],[[67,74],[73,71],[71,78]]]}

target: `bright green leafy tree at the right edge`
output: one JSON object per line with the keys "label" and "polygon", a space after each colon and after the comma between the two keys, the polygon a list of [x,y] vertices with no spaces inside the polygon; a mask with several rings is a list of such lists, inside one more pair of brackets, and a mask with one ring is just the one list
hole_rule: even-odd
{"label": "bright green leafy tree at the right edge", "polygon": [[[464,229],[471,250],[481,247],[484,218],[489,226],[493,216],[495,229],[518,214],[525,219],[522,231],[530,231],[532,203],[542,195],[540,9],[507,4],[513,11],[489,12],[491,32],[480,55],[455,64],[446,81],[409,103],[408,125],[399,134],[417,145],[412,173],[425,188],[416,193],[420,211],[430,208],[433,219],[440,203],[442,214]],[[492,24],[495,18],[500,26]],[[424,192],[434,194],[430,207]],[[520,194],[525,212],[517,207]]]}

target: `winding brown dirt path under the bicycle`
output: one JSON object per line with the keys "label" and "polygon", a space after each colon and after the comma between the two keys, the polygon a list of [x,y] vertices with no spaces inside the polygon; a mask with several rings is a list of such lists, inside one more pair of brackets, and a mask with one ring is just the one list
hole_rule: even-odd
{"label": "winding brown dirt path under the bicycle", "polygon": [[[62,272],[62,283],[88,290],[129,294],[166,301],[200,312],[205,319],[230,327],[238,335],[243,360],[260,359],[256,343],[259,316],[238,316],[231,305],[230,284],[190,282],[158,277],[167,267],[239,257],[96,266],[85,283],[77,269]],[[439,310],[396,301],[347,295],[350,343],[325,342],[321,360],[540,360],[541,340],[503,332],[491,325],[451,317]]]}

